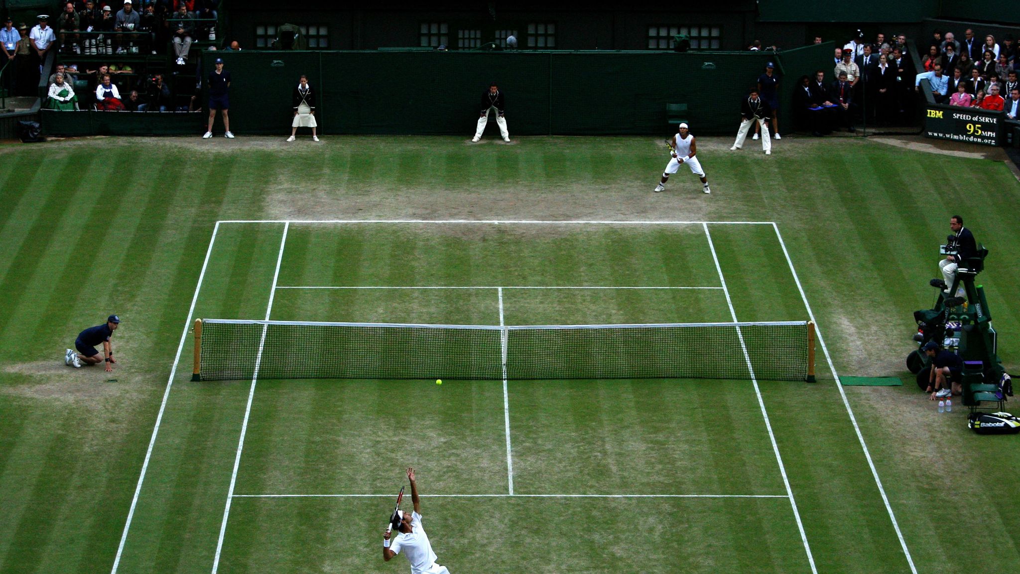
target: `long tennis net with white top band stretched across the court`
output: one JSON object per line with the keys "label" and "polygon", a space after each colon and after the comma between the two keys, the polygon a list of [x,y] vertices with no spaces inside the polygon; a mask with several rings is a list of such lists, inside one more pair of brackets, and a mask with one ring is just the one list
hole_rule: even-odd
{"label": "long tennis net with white top band stretched across the court", "polygon": [[[753,370],[753,374],[752,374]],[[415,325],[205,319],[193,380],[813,380],[809,322]]]}

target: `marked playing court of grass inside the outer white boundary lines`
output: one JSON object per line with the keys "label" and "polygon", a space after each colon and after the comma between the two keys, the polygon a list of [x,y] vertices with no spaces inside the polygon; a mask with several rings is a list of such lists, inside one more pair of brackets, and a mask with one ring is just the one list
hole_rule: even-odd
{"label": "marked playing court of grass inside the outer white boundary lines", "polygon": [[[219,222],[189,325],[786,322],[807,303],[772,223]],[[904,570],[827,350],[818,383],[775,381],[787,357],[744,342],[713,360],[757,377],[193,383],[186,330],[114,570],[389,571],[407,466],[452,572],[817,572],[858,544]]]}

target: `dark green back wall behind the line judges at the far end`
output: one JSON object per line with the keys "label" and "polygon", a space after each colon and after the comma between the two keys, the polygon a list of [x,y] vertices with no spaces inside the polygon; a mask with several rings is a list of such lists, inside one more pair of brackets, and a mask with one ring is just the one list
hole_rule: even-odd
{"label": "dark green back wall behind the line judges at the far end", "polygon": [[[831,46],[808,50],[789,52],[793,68],[783,73],[810,73]],[[318,90],[316,115],[325,133],[465,136],[473,133],[478,100],[493,81],[506,96],[514,135],[659,134],[670,129],[667,103],[687,103],[692,131],[729,133],[765,62],[784,57],[605,51],[219,55],[232,74],[231,126],[238,133],[288,133],[291,93],[305,74]]]}

